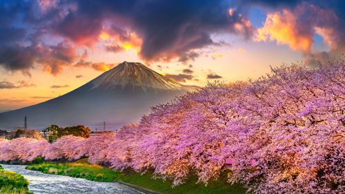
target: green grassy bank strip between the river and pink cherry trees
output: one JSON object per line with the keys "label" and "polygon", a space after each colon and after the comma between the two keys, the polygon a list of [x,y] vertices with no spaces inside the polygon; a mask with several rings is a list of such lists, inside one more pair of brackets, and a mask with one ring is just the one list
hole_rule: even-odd
{"label": "green grassy bank strip between the river and pink cherry trees", "polygon": [[197,177],[193,176],[188,178],[185,184],[172,188],[171,182],[168,180],[152,179],[151,172],[141,175],[141,173],[136,173],[135,171],[113,171],[103,166],[88,164],[85,159],[65,164],[51,162],[32,164],[28,166],[27,169],[48,174],[82,177],[87,180],[99,182],[114,182],[115,180],[120,180],[161,193],[246,193],[246,190],[242,188],[241,185],[231,185],[226,182],[227,173],[221,175],[217,181],[210,182],[208,186],[204,186],[204,184],[195,184],[197,182]]}

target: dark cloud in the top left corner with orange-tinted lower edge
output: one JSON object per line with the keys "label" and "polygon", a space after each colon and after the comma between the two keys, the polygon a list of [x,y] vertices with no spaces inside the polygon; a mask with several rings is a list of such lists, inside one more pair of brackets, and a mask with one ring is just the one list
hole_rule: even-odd
{"label": "dark cloud in the top left corner with orange-tinted lower edge", "polygon": [[74,48],[66,43],[47,45],[41,40],[41,36],[48,33],[47,23],[53,21],[48,21],[52,17],[47,15],[39,18],[39,12],[33,10],[34,6],[37,7],[37,1],[0,2],[0,66],[31,76],[30,69],[37,64],[57,75],[77,55]]}

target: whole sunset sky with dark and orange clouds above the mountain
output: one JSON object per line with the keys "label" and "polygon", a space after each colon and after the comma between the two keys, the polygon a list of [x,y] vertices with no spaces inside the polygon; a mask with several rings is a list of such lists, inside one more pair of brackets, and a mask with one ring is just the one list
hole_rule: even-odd
{"label": "whole sunset sky with dark and orange clouds above the mountain", "polygon": [[1,0],[0,112],[59,97],[122,61],[205,86],[344,51],[342,0]]}

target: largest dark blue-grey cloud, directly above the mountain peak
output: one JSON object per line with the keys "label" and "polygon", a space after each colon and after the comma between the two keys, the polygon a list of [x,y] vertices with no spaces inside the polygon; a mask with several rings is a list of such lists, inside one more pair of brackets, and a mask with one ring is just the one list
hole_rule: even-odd
{"label": "largest dark blue-grey cloud, directly above the mountain peak", "polygon": [[[55,32],[77,43],[92,45],[102,24],[112,23],[113,34],[126,39],[126,30],[142,39],[139,55],[146,61],[169,60],[196,48],[216,44],[213,32],[237,32],[243,16],[228,14],[226,1],[76,1],[77,10],[53,23]],[[120,27],[121,28],[120,28]],[[244,26],[244,37],[253,33]],[[238,32],[237,32],[238,33]]]}

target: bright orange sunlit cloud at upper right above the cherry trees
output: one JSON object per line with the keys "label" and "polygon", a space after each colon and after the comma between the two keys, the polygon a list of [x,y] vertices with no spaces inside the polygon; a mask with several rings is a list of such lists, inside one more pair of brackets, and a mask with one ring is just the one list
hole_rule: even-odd
{"label": "bright orange sunlit cloud at upper right above the cherry trees", "polygon": [[255,41],[277,41],[277,45],[286,44],[304,55],[311,55],[317,52],[313,50],[313,37],[317,33],[335,50],[339,39],[334,29],[337,21],[332,10],[302,3],[295,10],[267,14],[264,26],[257,29]]}

